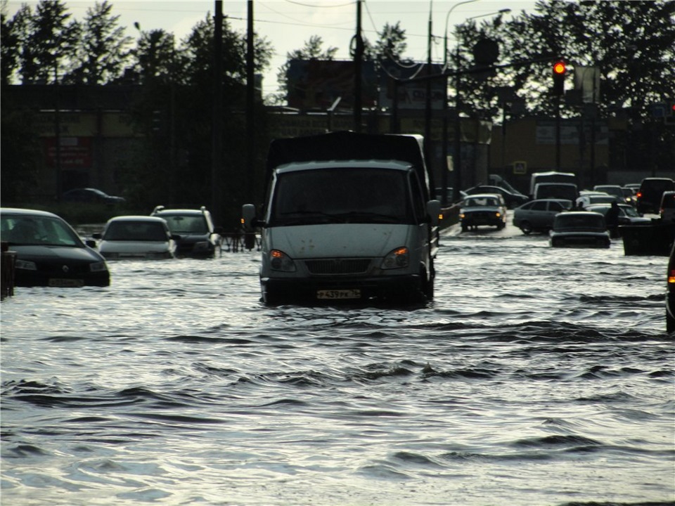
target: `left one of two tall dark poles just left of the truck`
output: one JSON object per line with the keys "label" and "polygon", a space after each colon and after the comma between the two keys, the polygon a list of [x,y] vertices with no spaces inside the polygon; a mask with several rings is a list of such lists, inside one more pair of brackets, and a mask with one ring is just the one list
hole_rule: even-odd
{"label": "left one of two tall dark poles just left of the truck", "polygon": [[220,223],[223,160],[223,1],[215,0],[213,33],[213,116],[211,137],[211,209]]}

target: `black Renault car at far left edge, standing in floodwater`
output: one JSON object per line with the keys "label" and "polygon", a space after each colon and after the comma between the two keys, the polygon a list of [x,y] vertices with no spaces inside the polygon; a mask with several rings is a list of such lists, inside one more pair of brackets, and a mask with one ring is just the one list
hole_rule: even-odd
{"label": "black Renault car at far left edge, standing in floodwater", "polygon": [[83,241],[67,221],[35,209],[0,209],[2,240],[16,252],[15,285],[110,285],[105,259],[94,241]]}

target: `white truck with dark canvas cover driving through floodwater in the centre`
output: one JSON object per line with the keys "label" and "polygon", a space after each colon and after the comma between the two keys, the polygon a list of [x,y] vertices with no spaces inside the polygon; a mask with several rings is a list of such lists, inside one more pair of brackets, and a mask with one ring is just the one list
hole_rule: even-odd
{"label": "white truck with dark canvas cover driving through floodwater in the centre", "polygon": [[352,131],[272,141],[259,228],[262,300],[430,300],[441,204],[417,135]]}

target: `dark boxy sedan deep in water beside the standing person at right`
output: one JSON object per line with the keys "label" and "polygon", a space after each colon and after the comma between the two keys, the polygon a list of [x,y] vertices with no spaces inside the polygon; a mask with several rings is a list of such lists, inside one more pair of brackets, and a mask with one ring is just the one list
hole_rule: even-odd
{"label": "dark boxy sedan deep in water beside the standing person at right", "polygon": [[610,247],[611,244],[605,216],[588,211],[557,214],[548,240],[553,247]]}

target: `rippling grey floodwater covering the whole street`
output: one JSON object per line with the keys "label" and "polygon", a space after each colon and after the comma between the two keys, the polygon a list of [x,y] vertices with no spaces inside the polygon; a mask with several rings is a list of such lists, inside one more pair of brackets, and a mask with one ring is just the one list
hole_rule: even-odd
{"label": "rippling grey floodwater covering the whole street", "polygon": [[3,301],[3,505],[672,505],[666,257],[444,236],[416,308],[266,307],[258,252]]}

